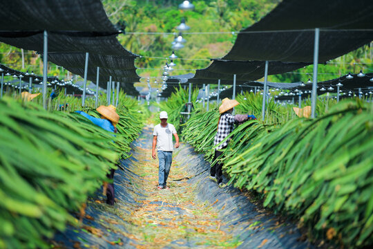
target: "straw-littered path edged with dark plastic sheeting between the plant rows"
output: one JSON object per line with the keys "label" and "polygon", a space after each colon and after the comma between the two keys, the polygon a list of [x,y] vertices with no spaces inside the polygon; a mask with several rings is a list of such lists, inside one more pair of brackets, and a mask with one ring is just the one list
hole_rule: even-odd
{"label": "straw-littered path edged with dark plastic sheeting between the plant rows", "polygon": [[309,248],[297,242],[294,225],[256,210],[233,187],[217,187],[207,178],[208,164],[188,145],[173,154],[170,189],[157,190],[151,131],[144,129],[133,156],[122,161],[124,170],[115,173],[115,206],[104,204],[97,192],[88,200],[81,227],[57,234],[56,247]]}

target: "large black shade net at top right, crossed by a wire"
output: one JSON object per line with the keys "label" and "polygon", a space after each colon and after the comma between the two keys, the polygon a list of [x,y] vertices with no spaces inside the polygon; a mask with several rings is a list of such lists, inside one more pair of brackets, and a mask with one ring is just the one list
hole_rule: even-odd
{"label": "large black shade net at top right, crossed by a wire", "polygon": [[284,0],[238,33],[222,59],[313,62],[314,28],[321,28],[318,61],[326,62],[373,39],[370,0]]}

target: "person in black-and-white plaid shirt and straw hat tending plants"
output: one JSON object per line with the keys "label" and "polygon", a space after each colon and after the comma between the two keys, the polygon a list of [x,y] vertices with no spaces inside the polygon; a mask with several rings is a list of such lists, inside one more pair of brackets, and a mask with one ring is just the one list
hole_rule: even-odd
{"label": "person in black-and-white plaid shirt and straw hat tending plants", "polygon": [[211,179],[218,182],[218,185],[222,186],[222,163],[216,162],[216,159],[223,153],[224,149],[227,148],[230,138],[222,142],[224,138],[227,138],[234,129],[234,124],[239,124],[247,120],[256,119],[254,115],[236,115],[233,116],[233,107],[240,104],[237,100],[229,100],[224,98],[222,104],[219,107],[220,118],[218,122],[218,130],[216,132],[213,145],[218,145],[215,149],[215,155],[213,157],[213,166],[211,167],[210,174]]}

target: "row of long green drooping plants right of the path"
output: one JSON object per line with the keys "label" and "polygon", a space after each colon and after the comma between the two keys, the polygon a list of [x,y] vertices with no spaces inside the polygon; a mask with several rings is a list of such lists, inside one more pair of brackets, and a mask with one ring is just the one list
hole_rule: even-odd
{"label": "row of long green drooping plants right of the path", "polygon": [[[229,184],[257,192],[263,205],[298,219],[310,237],[347,248],[368,246],[373,243],[372,114],[371,104],[357,99],[339,102],[314,120],[250,120],[233,130],[219,160]],[[182,132],[210,161],[218,117],[217,109],[196,113]]]}

